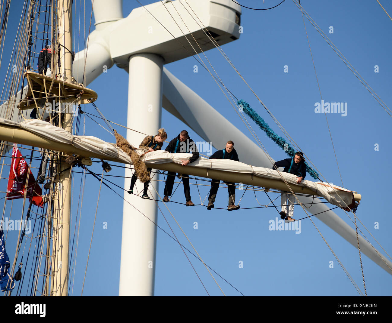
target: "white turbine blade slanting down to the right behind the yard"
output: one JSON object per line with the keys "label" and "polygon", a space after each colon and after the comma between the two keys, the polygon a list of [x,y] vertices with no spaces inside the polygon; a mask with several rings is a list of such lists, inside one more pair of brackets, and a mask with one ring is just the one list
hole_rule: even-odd
{"label": "white turbine blade slanting down to the right behind the yard", "polygon": [[[216,149],[225,147],[227,140],[233,140],[241,162],[260,167],[272,167],[272,163],[266,153],[258,145],[241,133],[225,117],[166,68],[163,68],[162,105],[164,109],[175,117],[178,117],[199,136],[207,141],[211,141]],[[312,198],[310,197],[298,196],[298,199],[302,203],[312,203]],[[314,199],[314,203],[316,202],[321,201]],[[356,231],[335,214],[335,212],[328,211],[329,208],[327,205],[313,204],[307,210],[310,214],[327,211],[315,216],[350,242],[355,248],[358,248]],[[359,235],[359,244],[361,251],[365,255],[392,275],[392,262],[379,254],[361,235]]]}

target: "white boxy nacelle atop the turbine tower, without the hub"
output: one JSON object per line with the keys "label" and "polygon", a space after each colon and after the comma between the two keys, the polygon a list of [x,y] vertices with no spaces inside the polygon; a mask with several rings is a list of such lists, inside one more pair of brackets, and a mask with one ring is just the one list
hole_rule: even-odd
{"label": "white boxy nacelle atop the turbine tower, without the hub", "polygon": [[167,1],[139,7],[117,24],[110,37],[111,56],[121,68],[138,53],[162,56],[165,64],[178,61],[195,50],[214,48],[209,37],[218,45],[240,38],[240,14],[239,5],[222,0]]}

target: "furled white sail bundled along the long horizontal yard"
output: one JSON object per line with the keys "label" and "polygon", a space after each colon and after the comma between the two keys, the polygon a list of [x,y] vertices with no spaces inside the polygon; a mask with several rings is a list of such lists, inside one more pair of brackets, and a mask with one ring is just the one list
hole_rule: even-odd
{"label": "furled white sail bundled along the long horizontal yard", "polygon": [[[59,150],[61,147],[58,145],[65,145],[65,147],[68,147],[64,150],[66,153],[75,153],[83,157],[95,157],[132,164],[131,158],[115,144],[105,142],[93,136],[73,136],[62,128],[52,126],[49,122],[31,119],[18,123],[0,118],[0,124],[22,128],[41,138],[54,142],[55,147],[51,147],[50,145],[53,145],[53,143],[48,142],[42,148]],[[9,140],[9,138],[7,138],[7,140]],[[56,143],[58,145],[56,145]],[[36,147],[39,147],[40,143],[35,145]],[[136,151],[140,154],[144,153],[142,149],[136,149]],[[148,167],[176,172],[182,172],[184,170],[181,164],[189,157],[190,154],[187,153],[171,154],[167,151],[153,151],[143,156]],[[191,165],[186,166],[186,173],[206,178],[229,180],[247,185],[290,191],[287,187],[288,183],[294,192],[301,192],[302,189],[305,194],[322,196],[329,203],[345,210],[350,210],[355,206],[353,192],[345,188],[337,186],[332,187],[328,183],[315,183],[307,180],[303,180],[301,183],[297,184],[297,177],[295,175],[278,172],[265,167],[247,165],[234,160],[200,157]],[[266,179],[267,181],[261,179]],[[310,189],[310,191],[305,190],[305,188]]]}

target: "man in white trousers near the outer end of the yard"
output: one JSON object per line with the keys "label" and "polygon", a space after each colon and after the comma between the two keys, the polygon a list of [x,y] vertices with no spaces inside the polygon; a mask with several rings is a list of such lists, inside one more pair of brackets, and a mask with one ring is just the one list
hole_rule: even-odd
{"label": "man in white trousers near the outer end of the yard", "polygon": [[[306,176],[306,164],[305,158],[303,158],[303,153],[301,151],[297,151],[293,158],[286,158],[283,160],[279,160],[279,162],[274,163],[272,166],[273,169],[278,170],[278,167],[285,167],[283,172],[287,172],[290,174],[296,175],[297,183],[301,183],[301,181]],[[295,221],[293,219],[294,214],[294,203],[295,196],[289,192],[281,191],[281,206],[282,210],[280,212],[281,219],[287,219],[287,221],[292,222]],[[288,200],[288,202],[287,202]],[[287,215],[287,206],[289,207],[289,215]]]}

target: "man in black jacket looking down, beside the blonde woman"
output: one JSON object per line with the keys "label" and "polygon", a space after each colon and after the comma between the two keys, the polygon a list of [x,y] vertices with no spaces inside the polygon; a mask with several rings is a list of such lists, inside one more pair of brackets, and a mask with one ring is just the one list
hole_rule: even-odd
{"label": "man in black jacket looking down, beside the blonde woman", "polygon": [[[193,163],[195,160],[199,158],[199,152],[197,151],[196,144],[191,138],[189,138],[188,131],[186,130],[181,131],[181,133],[177,136],[177,138],[171,140],[171,142],[169,142],[169,145],[167,145],[165,150],[172,154],[189,153],[190,151],[192,151],[192,157],[189,158],[188,160],[184,160],[182,166],[186,166],[189,163]],[[165,195],[163,197],[163,202],[168,202],[169,196],[172,195],[175,176],[176,173],[167,172],[165,191],[163,193]],[[187,201],[186,205],[194,206],[194,203],[191,201],[191,194],[189,192],[189,175],[178,174],[178,176],[182,176],[185,200]]]}

